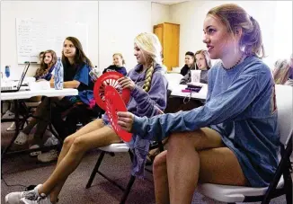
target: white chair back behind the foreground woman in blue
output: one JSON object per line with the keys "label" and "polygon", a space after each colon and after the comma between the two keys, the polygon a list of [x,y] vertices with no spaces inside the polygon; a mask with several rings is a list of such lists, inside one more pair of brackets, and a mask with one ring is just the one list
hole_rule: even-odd
{"label": "white chair back behind the foreground woman in blue", "polygon": [[287,146],[293,135],[293,86],[276,84],[280,142]]}

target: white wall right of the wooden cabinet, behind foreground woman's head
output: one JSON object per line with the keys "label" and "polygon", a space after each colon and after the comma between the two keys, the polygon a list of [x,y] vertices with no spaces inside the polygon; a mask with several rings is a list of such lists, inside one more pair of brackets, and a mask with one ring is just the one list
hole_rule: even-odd
{"label": "white wall right of the wooden cabinet, behind foreground woman's head", "polygon": [[270,67],[278,58],[289,58],[292,53],[291,1],[190,1],[170,6],[171,22],[181,25],[180,65],[188,50],[206,49],[202,42],[202,24],[209,9],[219,4],[235,3],[253,16],[261,25],[263,44],[268,55],[264,58]]}

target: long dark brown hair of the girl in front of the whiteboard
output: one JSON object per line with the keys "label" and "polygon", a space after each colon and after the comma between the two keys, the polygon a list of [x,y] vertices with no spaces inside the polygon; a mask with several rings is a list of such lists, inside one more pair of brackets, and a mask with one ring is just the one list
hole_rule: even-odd
{"label": "long dark brown hair of the girl in front of the whiteboard", "polygon": [[[80,41],[78,39],[76,39],[75,37],[67,37],[66,40],[71,41],[75,46],[75,49],[76,49],[76,51],[75,51],[75,65],[80,65],[80,64],[84,63],[88,67],[93,68],[93,64],[92,64],[91,60],[89,58],[87,58],[84,54],[84,49],[83,49],[83,46],[80,43]],[[65,40],[64,40],[64,42],[65,42]],[[66,64],[66,65],[69,64],[68,58],[64,56],[63,51],[62,51],[62,63]]]}

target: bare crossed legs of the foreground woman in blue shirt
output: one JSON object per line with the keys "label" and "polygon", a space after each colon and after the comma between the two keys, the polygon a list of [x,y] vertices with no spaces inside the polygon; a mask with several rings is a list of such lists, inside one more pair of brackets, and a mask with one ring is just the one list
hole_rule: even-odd
{"label": "bare crossed legs of the foreground woman in blue shirt", "polygon": [[175,133],[155,157],[155,203],[190,204],[198,182],[247,185],[234,153],[213,129]]}

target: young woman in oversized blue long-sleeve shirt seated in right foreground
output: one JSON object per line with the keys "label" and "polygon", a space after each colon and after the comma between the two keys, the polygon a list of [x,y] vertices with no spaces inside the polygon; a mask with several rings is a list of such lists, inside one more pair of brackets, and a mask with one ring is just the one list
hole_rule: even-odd
{"label": "young woman in oversized blue long-sleeve shirt seated in right foreground", "polygon": [[209,56],[204,106],[139,118],[119,112],[119,124],[144,139],[169,136],[155,158],[155,203],[191,203],[198,182],[264,187],[278,165],[275,88],[262,60],[260,26],[243,8],[212,8],[203,26]]}

